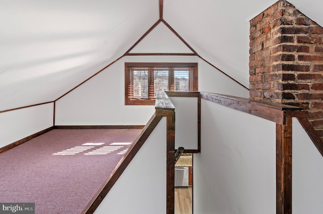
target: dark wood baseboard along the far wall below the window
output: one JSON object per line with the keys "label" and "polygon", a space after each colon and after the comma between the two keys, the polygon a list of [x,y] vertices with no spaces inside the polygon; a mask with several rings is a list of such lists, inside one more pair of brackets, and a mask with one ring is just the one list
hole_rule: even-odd
{"label": "dark wood baseboard along the far wall below the window", "polygon": [[55,129],[142,129],[144,125],[56,125]]}

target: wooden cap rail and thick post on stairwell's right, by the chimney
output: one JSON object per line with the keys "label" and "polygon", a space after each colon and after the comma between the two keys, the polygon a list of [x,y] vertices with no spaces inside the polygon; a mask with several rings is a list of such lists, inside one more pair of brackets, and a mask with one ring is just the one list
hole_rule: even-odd
{"label": "wooden cap rail and thick post on stairwell's right, by the chimney", "polygon": [[306,119],[302,108],[201,92],[202,99],[276,123],[276,213],[292,213],[292,117]]}

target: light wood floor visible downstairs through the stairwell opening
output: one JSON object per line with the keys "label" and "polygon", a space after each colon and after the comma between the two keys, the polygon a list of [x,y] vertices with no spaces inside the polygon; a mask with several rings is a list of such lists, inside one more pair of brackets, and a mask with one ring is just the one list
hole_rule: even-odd
{"label": "light wood floor visible downstairs through the stairwell opening", "polygon": [[175,187],[175,214],[192,214],[192,187]]}

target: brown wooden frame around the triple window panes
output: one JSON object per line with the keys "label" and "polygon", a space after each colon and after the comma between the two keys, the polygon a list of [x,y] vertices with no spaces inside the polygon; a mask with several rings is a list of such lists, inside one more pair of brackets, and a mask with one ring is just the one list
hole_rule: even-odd
{"label": "brown wooden frame around the triple window panes", "polygon": [[[131,83],[131,68],[149,68],[148,71],[148,90],[149,97],[148,99],[131,99],[129,98],[129,85]],[[198,70],[197,62],[125,62],[125,105],[155,105],[155,98],[151,98],[151,93],[153,93],[153,71],[154,68],[193,68],[189,74],[189,91],[198,91]],[[169,81],[174,82],[174,72],[169,72],[169,75],[173,75],[173,78],[170,76]],[[171,91],[171,84],[169,84],[169,91]]]}

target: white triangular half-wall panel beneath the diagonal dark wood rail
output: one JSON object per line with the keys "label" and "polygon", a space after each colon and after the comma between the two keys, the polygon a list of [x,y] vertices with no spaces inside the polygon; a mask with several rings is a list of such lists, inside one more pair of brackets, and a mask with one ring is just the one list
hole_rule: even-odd
{"label": "white triangular half-wall panel beneath the diagonal dark wood rail", "polygon": [[165,133],[166,117],[152,131],[95,214],[166,213]]}

